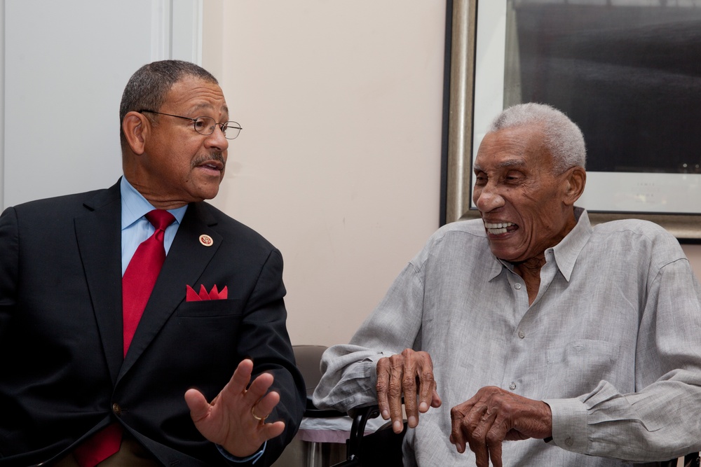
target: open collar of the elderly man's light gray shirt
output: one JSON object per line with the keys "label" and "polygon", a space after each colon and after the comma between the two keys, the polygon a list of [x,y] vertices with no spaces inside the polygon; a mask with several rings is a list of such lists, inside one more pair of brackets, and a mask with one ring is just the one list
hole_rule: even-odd
{"label": "open collar of the elderly man's light gray shirt", "polygon": [[[587,211],[583,208],[575,207],[574,215],[577,219],[574,228],[565,235],[564,239],[562,239],[559,244],[547,249],[552,250],[555,264],[568,282],[580,251],[582,251],[585,244],[587,244],[589,238],[592,236],[592,224],[589,221]],[[501,274],[503,267],[508,268],[510,271],[514,270],[514,265],[508,261],[500,260],[494,255],[492,255],[492,257],[494,258],[494,262],[491,263],[491,270],[487,276],[490,281]]]}

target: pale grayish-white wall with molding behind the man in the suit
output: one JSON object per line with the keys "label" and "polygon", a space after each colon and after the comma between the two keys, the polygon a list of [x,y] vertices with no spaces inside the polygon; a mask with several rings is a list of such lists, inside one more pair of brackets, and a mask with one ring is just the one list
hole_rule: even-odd
{"label": "pale grayish-white wall with molding behind the man in the suit", "polygon": [[119,102],[164,58],[200,60],[201,0],[3,0],[0,205],[111,186]]}

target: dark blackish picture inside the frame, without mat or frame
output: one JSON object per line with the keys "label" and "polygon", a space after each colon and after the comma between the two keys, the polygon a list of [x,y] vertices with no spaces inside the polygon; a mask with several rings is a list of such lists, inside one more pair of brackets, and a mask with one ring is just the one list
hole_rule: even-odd
{"label": "dark blackish picture inside the frame, without mat or frame", "polygon": [[588,172],[700,173],[701,7],[601,3],[507,2],[504,106],[567,113]]}

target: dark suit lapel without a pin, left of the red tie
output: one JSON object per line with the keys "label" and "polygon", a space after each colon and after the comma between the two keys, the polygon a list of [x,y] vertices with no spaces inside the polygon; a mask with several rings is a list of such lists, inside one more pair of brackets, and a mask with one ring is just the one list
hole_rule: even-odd
{"label": "dark suit lapel without a pin, left of the red tie", "polygon": [[100,191],[74,220],[76,239],[93,301],[112,382],[122,364],[121,198],[119,183]]}

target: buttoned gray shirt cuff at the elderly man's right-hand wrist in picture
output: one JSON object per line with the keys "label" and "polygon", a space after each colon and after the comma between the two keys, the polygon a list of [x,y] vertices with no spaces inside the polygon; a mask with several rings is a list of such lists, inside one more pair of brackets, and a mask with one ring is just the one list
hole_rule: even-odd
{"label": "buttoned gray shirt cuff at the elderly man's right-hand wrist in picture", "polygon": [[545,399],[552,413],[552,442],[566,451],[583,454],[589,447],[587,407],[577,398]]}

